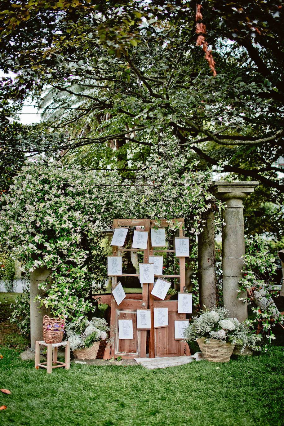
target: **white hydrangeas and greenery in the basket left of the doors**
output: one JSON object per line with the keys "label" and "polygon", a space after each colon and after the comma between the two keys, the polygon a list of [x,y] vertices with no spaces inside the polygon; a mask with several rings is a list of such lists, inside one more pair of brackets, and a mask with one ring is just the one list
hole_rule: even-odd
{"label": "white hydrangeas and greenery in the basket left of the doors", "polygon": [[93,343],[106,340],[109,327],[103,318],[79,317],[74,322],[69,322],[65,327],[66,335],[72,351],[75,349],[89,348]]}

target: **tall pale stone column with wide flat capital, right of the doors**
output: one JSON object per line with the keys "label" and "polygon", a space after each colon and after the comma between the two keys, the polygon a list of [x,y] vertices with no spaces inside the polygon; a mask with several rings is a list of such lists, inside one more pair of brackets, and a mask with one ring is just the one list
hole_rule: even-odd
{"label": "tall pale stone column with wide flat capital, right of the doors", "polygon": [[238,300],[238,297],[247,297],[246,292],[238,293],[244,265],[242,256],[245,253],[242,200],[254,191],[256,185],[258,182],[219,181],[212,184],[213,194],[226,203],[223,213],[226,225],[222,229],[224,307],[239,321],[247,319],[247,303]]}

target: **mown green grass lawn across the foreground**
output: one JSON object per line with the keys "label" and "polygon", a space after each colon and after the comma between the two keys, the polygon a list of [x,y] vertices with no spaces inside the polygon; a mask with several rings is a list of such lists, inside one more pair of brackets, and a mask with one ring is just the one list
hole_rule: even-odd
{"label": "mown green grass lawn across the foreground", "polygon": [[229,363],[163,370],[86,366],[46,374],[2,348],[0,424],[25,426],[280,426],[282,347]]}

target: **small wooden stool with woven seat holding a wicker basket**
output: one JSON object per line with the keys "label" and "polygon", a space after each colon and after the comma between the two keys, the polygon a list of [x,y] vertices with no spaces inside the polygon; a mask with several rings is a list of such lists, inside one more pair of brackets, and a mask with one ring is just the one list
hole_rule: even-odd
{"label": "small wooden stool with woven seat holding a wicker basket", "polygon": [[[47,346],[47,361],[40,363],[40,345]],[[65,363],[57,361],[57,348],[58,346],[65,346]],[[52,360],[52,349],[53,349],[53,360]],[[65,367],[66,370],[70,368],[70,343],[68,341],[60,343],[45,343],[37,340],[35,342],[35,367],[43,367],[47,369],[48,373],[51,373],[52,368]]]}

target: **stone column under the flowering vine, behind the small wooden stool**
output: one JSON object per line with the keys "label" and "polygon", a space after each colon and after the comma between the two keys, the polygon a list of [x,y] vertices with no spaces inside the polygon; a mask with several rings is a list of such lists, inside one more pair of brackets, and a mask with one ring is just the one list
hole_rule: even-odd
{"label": "stone column under the flowering vine, behind the small wooden stool", "polygon": [[[34,300],[37,294],[43,295],[45,290],[39,290],[38,284],[48,280],[51,271],[47,268],[37,268],[31,273],[31,348],[34,350],[35,341],[43,340],[43,317],[48,314],[44,306],[40,306],[39,300]],[[49,287],[49,285],[47,286]]]}

